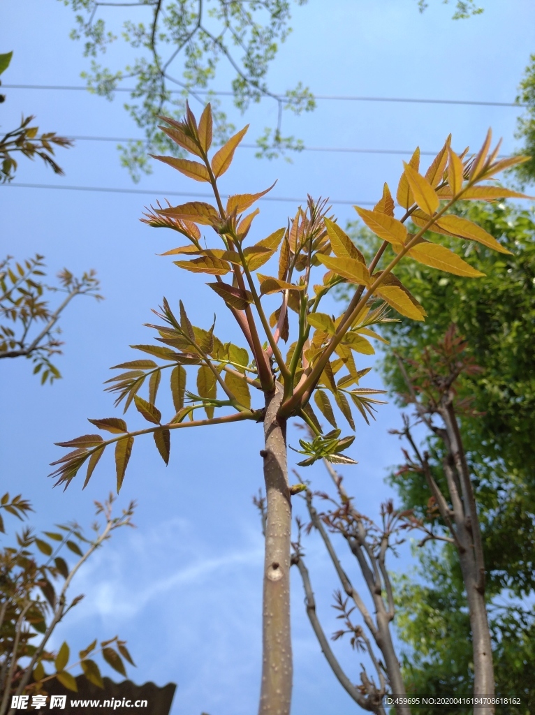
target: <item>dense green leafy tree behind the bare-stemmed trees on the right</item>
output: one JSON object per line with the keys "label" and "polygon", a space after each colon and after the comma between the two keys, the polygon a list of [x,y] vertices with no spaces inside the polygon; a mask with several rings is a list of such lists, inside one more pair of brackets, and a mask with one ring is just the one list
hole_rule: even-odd
{"label": "dense green leafy tree behind the bare-stemmed trees on the right", "polygon": [[[466,354],[481,368],[471,375],[461,373],[457,380],[458,399],[473,398],[473,412],[463,415],[460,428],[481,521],[496,687],[500,694],[522,696],[522,712],[528,713],[534,702],[529,674],[534,620],[518,599],[534,588],[535,453],[529,437],[535,395],[534,214],[533,209],[497,202],[486,207],[467,203],[461,216],[483,226],[511,254],[497,255],[445,237],[452,250],[470,256],[486,275],[466,282],[433,271],[424,276],[415,265],[403,264],[398,273],[403,283],[426,305],[431,296],[435,302],[425,324],[403,320],[397,330],[384,324],[382,331],[399,355],[420,364],[426,347],[436,345],[454,322],[458,334],[466,337]],[[408,390],[398,361],[387,355],[383,374],[405,405]],[[431,437],[426,448],[432,470],[440,474],[443,445]],[[431,493],[424,475],[404,471],[392,481],[403,507],[415,508],[428,520]],[[469,626],[459,607],[463,585],[452,548],[419,554],[416,580],[401,579],[398,603],[401,635],[411,646],[404,659],[407,682],[414,690],[437,694],[469,689]]]}

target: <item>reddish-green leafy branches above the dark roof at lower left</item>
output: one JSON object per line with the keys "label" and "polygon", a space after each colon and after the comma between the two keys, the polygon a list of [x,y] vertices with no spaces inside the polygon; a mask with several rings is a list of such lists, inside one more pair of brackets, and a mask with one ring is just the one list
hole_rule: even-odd
{"label": "reddish-green leafy branches above the dark roof at lower left", "polygon": [[[31,528],[16,535],[16,546],[0,551],[0,715],[12,715],[20,696],[28,698],[46,694],[44,683],[57,680],[69,690],[77,691],[71,670],[81,666],[85,677],[103,688],[102,676],[94,656],[126,676],[123,659],[134,665],[125,641],[117,636],[97,645],[97,639],[79,652],[79,659],[69,665],[70,649],[66,642],[57,652],[46,646],[57,624],[84,598],[69,597],[74,576],[84,563],[117,528],[132,526],[134,504],[121,516],[112,516],[113,498],[95,502],[97,516],[104,516],[104,528],[94,526],[94,536],[87,538],[76,523],[61,524],[59,531],[45,531],[36,536]],[[1,511],[24,519],[31,509],[21,495],[9,493],[0,500],[0,532],[5,533]],[[66,550],[76,556],[69,566]],[[59,586],[57,582],[62,582]],[[90,656],[90,657],[89,657]],[[51,667],[51,672],[46,669]]]}

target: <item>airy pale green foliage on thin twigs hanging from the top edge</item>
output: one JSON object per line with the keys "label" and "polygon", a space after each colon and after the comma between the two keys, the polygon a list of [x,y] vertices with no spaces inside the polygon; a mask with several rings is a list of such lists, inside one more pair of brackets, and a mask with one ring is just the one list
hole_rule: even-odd
{"label": "airy pale green foliage on thin twigs hanging from the top edge", "polygon": [[[230,137],[234,127],[210,92],[219,78],[221,60],[234,74],[230,94],[240,112],[262,98],[278,106],[277,126],[267,127],[257,139],[257,155],[273,158],[303,148],[303,142],[283,135],[283,112],[312,111],[313,95],[300,82],[285,94],[275,95],[266,82],[279,45],[291,31],[290,0],[140,1],[139,9],[129,7],[112,29],[105,19],[107,9],[97,0],[62,1],[76,13],[72,39],[84,41],[84,56],[91,58],[91,71],[82,73],[88,87],[101,97],[113,99],[124,83],[133,85],[125,109],[144,130],[145,141],[119,145],[119,149],[121,162],[134,181],[139,180],[141,172],[152,170],[147,151],[185,156],[158,132],[157,125],[161,114],[179,119],[188,97],[202,104],[210,99],[216,141],[222,144]],[[306,0],[295,2],[303,5]],[[119,38],[134,56],[124,69],[109,69],[97,58]]]}

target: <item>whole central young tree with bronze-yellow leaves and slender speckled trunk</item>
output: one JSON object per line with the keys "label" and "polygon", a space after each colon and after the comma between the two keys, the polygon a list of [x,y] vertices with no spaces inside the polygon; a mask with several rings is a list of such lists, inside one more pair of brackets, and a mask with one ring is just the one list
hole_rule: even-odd
{"label": "whole central young tree with bronze-yellow leaves and slender speckled trunk", "polygon": [[[393,269],[402,260],[413,258],[423,265],[438,265],[442,270],[479,275],[446,247],[423,240],[423,235],[431,227],[441,230],[443,227],[449,235],[468,236],[502,250],[483,229],[451,214],[451,208],[463,197],[493,197],[495,187],[485,182],[522,159],[497,160],[497,149],[489,153],[489,133],[476,157],[463,161],[453,152],[448,139],[423,176],[418,173],[417,150],[411,162],[405,164],[396,194],[398,204],[405,209],[402,220],[393,216],[395,204],[386,185],[373,211],[357,208],[360,217],[383,240],[368,264],[348,235],[328,217],[325,201],[309,199],[307,207],[298,209],[287,228],[246,245],[258,209],[247,215],[243,212],[270,189],[256,194],[234,194],[225,205],[217,180],[230,167],[247,128],[231,137],[210,159],[210,105],[205,107],[198,123],[189,107],[182,122],[171,118],[165,121],[168,125],[162,127],[165,134],[200,161],[157,158],[197,181],[210,184],[216,205],[205,202],[166,208],[158,205],[145,216],[144,222],[187,237],[187,245],[174,248],[167,255],[179,257],[175,265],[183,270],[215,277],[207,285],[230,310],[247,347],[222,342],[215,336],[215,322],[207,329],[193,326],[182,302],[179,314],[175,315],[164,299],[162,307],[155,311],[160,322],[152,326],[158,336],[156,344],[134,346],[161,362],[137,358],[117,365],[127,371],[112,378],[109,388],[117,393],[117,404],[123,402],[125,410],[134,403],[149,426],[130,430],[122,418],[90,420],[112,436],[104,439],[100,434],[83,435],[62,443],[74,450],[55,463],[54,475],[58,483],[67,486],[87,465],[87,483],[104,451],[112,446],[119,490],[134,440],[141,435],[153,435],[159,454],[168,463],[170,435],[174,430],[232,422],[262,423],[264,446],[260,455],[267,501],[260,714],[288,714],[293,668],[290,498],[296,490],[288,481],[288,418],[301,418],[315,435],[311,440],[299,440],[300,449],[296,451],[304,456],[300,465],[307,466],[323,458],[331,463],[353,463],[344,454],[353,443],[353,435],[341,437],[339,428],[323,433],[310,405],[311,398],[322,412],[329,413],[333,409],[328,398],[331,393],[350,428],[355,428],[349,400],[358,410],[365,411],[370,392],[359,385],[362,373],[359,375],[353,353],[373,352],[368,337],[376,337],[371,327],[385,320],[385,305],[411,320],[423,320],[426,315]],[[506,193],[506,189],[500,190],[501,195]],[[423,226],[409,233],[405,222],[416,212],[425,217]],[[212,246],[212,241],[208,243],[212,234],[202,242],[199,225],[212,228],[216,246]],[[275,276],[257,272],[275,255],[278,256]],[[383,267],[379,268],[381,260]],[[230,282],[222,280],[225,275]],[[342,282],[355,286],[348,307],[338,317],[320,312],[323,297]],[[277,296],[279,300],[273,303]],[[271,315],[270,303],[275,307]],[[295,340],[283,356],[280,339],[290,337],[288,309],[296,315],[291,321]],[[186,390],[187,372],[192,368],[197,371],[195,392]],[[176,410],[170,419],[162,418],[155,404],[165,370],[169,370],[168,384]],[[149,387],[148,400],[139,395],[145,381]],[[260,393],[260,403],[252,404],[250,388]],[[197,418],[198,410],[204,410],[206,418]],[[301,488],[299,485],[297,490]]]}

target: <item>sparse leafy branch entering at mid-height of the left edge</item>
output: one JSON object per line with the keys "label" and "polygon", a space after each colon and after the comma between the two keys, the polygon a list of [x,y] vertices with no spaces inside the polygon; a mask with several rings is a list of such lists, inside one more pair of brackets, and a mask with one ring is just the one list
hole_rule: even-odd
{"label": "sparse leafy branch entering at mid-height of the left edge", "polygon": [[[51,357],[62,352],[57,322],[63,310],[77,295],[102,299],[93,270],[77,278],[64,268],[57,275],[59,285],[50,286],[43,282],[43,260],[36,255],[19,263],[8,256],[0,262],[0,359],[31,359],[41,385],[61,377]],[[46,296],[54,292],[64,293],[64,300],[51,309]]]}

